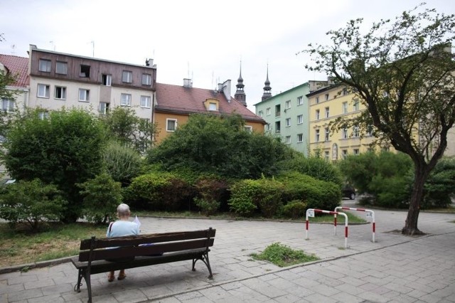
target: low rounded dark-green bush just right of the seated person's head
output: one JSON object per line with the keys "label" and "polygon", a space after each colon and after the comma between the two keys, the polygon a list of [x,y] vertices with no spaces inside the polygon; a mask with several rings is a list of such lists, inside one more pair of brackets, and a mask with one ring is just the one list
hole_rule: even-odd
{"label": "low rounded dark-green bush just right of the seated person's head", "polygon": [[177,211],[185,208],[191,187],[176,174],[151,172],[137,176],[125,191],[125,200],[137,209]]}

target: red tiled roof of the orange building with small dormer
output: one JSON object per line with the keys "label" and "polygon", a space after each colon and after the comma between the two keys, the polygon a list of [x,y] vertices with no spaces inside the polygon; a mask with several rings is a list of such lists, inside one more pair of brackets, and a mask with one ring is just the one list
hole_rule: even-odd
{"label": "red tiled roof of the orange building with small dormer", "polygon": [[205,109],[203,102],[209,98],[219,100],[219,114],[237,113],[245,120],[263,122],[265,124],[264,119],[255,115],[234,98],[231,97],[230,102],[228,102],[223,92],[196,87],[156,83],[155,110],[156,112],[178,112],[183,114],[208,113],[209,111]]}

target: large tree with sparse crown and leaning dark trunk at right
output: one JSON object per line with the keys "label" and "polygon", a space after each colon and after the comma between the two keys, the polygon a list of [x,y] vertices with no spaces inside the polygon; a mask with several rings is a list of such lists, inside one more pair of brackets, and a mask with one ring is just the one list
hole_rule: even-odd
{"label": "large tree with sparse crown and leaning dark trunk at right", "polygon": [[[423,4],[422,4],[423,5]],[[419,234],[417,221],[424,183],[447,146],[455,121],[455,16],[434,9],[405,11],[395,21],[373,23],[364,35],[363,19],[329,31],[331,46],[309,45],[309,70],[325,72],[348,87],[368,109],[334,127],[373,125],[414,163],[414,184],[402,233]]]}

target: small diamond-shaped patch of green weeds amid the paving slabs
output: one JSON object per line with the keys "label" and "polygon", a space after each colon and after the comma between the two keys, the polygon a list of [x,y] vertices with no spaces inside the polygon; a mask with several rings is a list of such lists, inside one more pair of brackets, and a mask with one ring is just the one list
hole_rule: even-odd
{"label": "small diamond-shaped patch of green weeds amid the paving slabs", "polygon": [[255,260],[272,262],[279,267],[319,260],[319,257],[315,255],[307,255],[303,250],[293,250],[289,246],[282,245],[279,242],[267,246],[260,254],[252,253],[250,256]]}

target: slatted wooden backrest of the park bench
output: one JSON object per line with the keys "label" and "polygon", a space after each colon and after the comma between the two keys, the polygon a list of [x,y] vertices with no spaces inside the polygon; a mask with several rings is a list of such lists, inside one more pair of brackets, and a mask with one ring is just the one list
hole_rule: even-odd
{"label": "slatted wooden backrest of the park bench", "polygon": [[[216,230],[193,230],[175,233],[154,233],[115,238],[92,237],[80,242],[79,261],[111,260],[139,255],[157,255],[213,246]],[[153,243],[153,245],[149,245]]]}

